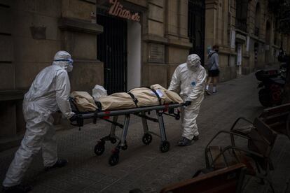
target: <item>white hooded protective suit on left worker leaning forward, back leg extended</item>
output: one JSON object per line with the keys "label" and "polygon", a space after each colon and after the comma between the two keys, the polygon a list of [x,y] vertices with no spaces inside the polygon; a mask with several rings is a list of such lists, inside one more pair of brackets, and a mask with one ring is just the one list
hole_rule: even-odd
{"label": "white hooded protective suit on left worker leaning forward, back leg extended", "polygon": [[71,55],[65,51],[56,53],[53,65],[43,69],[34,79],[23,100],[26,132],[20,148],[9,167],[4,187],[21,183],[32,162],[32,156],[42,149],[44,166],[57,162],[57,144],[52,113],[61,110],[69,118],[74,113],[69,105],[70,83],[67,71],[72,69]]}

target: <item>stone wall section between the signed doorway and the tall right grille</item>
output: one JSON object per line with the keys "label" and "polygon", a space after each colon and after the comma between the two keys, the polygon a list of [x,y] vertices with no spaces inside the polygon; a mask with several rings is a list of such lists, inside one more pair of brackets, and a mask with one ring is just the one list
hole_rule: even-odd
{"label": "stone wall section between the signed doorway and the tall right grille", "polygon": [[[191,48],[187,35],[188,1],[148,1],[147,25],[144,27],[142,85],[159,83],[168,87],[178,64],[186,62]],[[154,47],[164,51],[163,62],[149,57]]]}

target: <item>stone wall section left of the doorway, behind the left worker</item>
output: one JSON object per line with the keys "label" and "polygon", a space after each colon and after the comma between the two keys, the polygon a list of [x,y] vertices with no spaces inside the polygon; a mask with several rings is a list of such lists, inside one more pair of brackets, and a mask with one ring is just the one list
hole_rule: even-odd
{"label": "stone wall section left of the doorway, behind the left worker", "polygon": [[96,46],[102,27],[91,22],[94,11],[95,1],[0,1],[1,138],[14,139],[25,131],[23,95],[58,50],[67,50],[74,59],[71,90],[102,85]]}

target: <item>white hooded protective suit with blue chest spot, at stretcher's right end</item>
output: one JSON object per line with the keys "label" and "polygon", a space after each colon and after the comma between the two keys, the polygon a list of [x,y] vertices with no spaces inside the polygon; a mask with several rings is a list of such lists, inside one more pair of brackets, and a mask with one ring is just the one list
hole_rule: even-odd
{"label": "white hooded protective suit with blue chest spot, at stretcher's right end", "polygon": [[181,110],[182,127],[184,128],[182,136],[189,140],[192,140],[193,136],[199,135],[196,118],[204,97],[206,80],[207,72],[200,65],[200,57],[193,54],[188,56],[186,63],[177,66],[168,88],[168,90],[180,90],[182,99],[191,101],[190,106]]}

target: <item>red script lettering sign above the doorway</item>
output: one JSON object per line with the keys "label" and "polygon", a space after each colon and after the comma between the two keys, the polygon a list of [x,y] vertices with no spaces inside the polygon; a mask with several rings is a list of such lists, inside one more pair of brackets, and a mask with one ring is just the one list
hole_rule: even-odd
{"label": "red script lettering sign above the doorway", "polygon": [[139,13],[131,13],[130,10],[123,8],[123,5],[118,2],[118,0],[109,0],[109,2],[112,4],[109,10],[110,15],[122,17],[127,20],[132,20],[136,22],[140,21]]}

